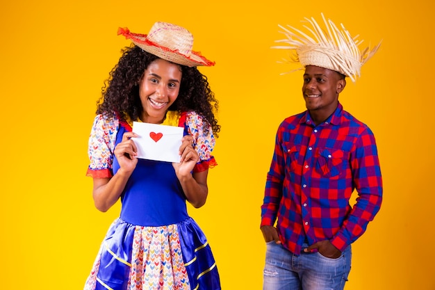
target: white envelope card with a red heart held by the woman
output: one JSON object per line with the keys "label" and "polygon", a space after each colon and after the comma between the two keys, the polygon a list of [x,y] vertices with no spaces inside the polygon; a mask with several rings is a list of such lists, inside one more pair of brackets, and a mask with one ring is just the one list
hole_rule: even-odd
{"label": "white envelope card with a red heart held by the woman", "polygon": [[139,135],[131,138],[138,147],[138,158],[180,162],[183,127],[133,122],[132,131]]}

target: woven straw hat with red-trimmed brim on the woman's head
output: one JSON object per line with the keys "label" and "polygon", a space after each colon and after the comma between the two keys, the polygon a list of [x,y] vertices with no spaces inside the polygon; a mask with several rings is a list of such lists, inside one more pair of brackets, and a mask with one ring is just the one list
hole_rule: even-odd
{"label": "woven straw hat with red-trimmed brim on the woman's head", "polygon": [[119,28],[118,35],[121,34],[141,49],[163,58],[165,61],[188,67],[215,65],[201,53],[192,51],[192,34],[187,29],[175,24],[156,22],[148,34],[131,33],[127,28]]}

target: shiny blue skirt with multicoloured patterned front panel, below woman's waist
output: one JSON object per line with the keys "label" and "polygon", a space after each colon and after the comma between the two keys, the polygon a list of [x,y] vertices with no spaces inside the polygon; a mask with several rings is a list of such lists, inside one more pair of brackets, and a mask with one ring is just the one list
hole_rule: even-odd
{"label": "shiny blue skirt with multicoloured patterned front panel, below woman's waist", "polygon": [[95,259],[85,290],[220,290],[211,248],[195,220],[159,227],[117,218]]}

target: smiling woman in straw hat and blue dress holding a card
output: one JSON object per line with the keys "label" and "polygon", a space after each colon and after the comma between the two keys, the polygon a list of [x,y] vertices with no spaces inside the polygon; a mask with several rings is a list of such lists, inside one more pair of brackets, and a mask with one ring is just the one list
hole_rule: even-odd
{"label": "smiling woman in straw hat and blue dress holding a card", "polygon": [[[206,202],[211,152],[220,131],[217,100],[197,66],[183,27],[156,22],[147,35],[120,29],[132,40],[110,72],[92,126],[88,176],[95,207],[121,199],[85,289],[220,289],[206,236],[186,209]],[[133,121],[184,128],[179,163],[138,159]]]}

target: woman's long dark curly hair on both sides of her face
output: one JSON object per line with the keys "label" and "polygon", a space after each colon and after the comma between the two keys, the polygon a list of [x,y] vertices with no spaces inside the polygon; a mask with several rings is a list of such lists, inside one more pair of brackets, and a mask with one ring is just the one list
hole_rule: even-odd
{"label": "woman's long dark curly hair on both sides of her face", "polygon": [[[148,65],[158,56],[149,54],[136,45],[122,49],[120,61],[109,73],[109,78],[101,88],[101,98],[97,102],[97,114],[117,113],[121,118],[128,116],[137,120],[142,115],[139,97],[139,83]],[[207,77],[197,67],[181,67],[181,84],[179,95],[170,106],[170,111],[195,111],[211,126],[217,137],[220,125],[214,112],[218,102],[211,91]]]}

